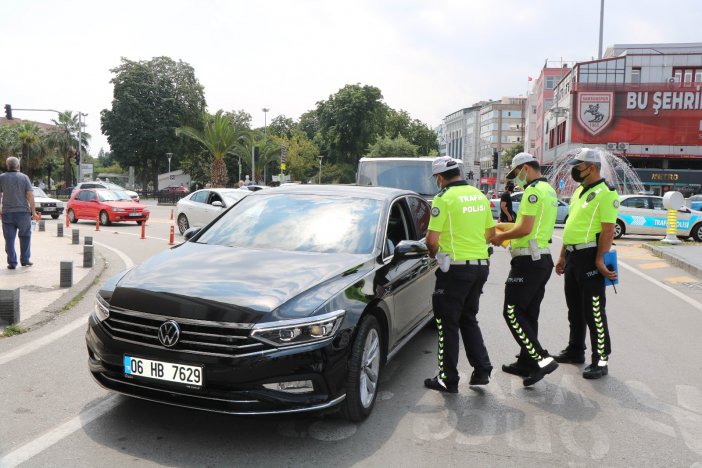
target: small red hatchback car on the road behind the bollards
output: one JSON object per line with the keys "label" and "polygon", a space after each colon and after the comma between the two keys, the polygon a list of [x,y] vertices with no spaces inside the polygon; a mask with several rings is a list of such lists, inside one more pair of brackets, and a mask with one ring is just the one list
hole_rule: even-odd
{"label": "small red hatchback car on the road behind the bollards", "polygon": [[149,219],[146,205],[132,201],[125,192],[105,189],[83,189],[71,195],[66,206],[68,219],[75,223],[79,219],[94,221],[107,226],[116,221],[136,221],[141,224]]}

